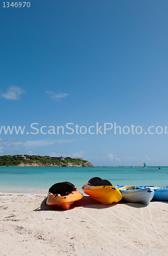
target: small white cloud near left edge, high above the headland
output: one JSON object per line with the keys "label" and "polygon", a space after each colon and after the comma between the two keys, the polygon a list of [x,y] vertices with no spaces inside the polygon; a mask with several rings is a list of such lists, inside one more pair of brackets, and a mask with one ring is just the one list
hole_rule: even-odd
{"label": "small white cloud near left edge, high above the headland", "polygon": [[9,100],[18,100],[23,93],[25,93],[25,91],[20,87],[10,86],[8,87],[7,93],[2,94],[1,97]]}

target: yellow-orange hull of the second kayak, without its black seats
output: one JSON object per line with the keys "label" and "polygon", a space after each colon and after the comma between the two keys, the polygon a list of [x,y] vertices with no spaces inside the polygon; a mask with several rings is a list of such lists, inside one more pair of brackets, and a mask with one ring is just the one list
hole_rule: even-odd
{"label": "yellow-orange hull of the second kayak, without its black seats", "polygon": [[91,186],[86,183],[82,186],[82,190],[102,204],[112,204],[122,200],[121,192],[114,186]]}

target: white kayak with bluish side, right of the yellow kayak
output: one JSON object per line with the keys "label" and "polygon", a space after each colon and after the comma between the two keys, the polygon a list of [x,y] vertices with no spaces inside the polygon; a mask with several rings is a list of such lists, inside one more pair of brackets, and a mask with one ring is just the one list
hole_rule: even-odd
{"label": "white kayak with bluish side, right of the yellow kayak", "polygon": [[154,197],[154,190],[149,187],[136,189],[136,186],[125,186],[119,188],[119,190],[121,191],[123,200],[130,203],[149,204]]}

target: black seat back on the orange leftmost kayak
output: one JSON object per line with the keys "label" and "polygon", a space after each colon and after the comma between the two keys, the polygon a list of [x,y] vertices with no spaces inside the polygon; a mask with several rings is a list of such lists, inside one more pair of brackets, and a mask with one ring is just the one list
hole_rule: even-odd
{"label": "black seat back on the orange leftmost kayak", "polygon": [[66,196],[67,194],[75,190],[76,187],[74,186],[74,184],[67,181],[56,183],[49,188],[50,193],[54,195],[60,194],[61,197]]}

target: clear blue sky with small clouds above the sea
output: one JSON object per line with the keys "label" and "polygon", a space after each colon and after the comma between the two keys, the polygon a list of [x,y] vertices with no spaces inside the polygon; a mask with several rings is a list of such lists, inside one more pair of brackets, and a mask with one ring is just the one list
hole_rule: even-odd
{"label": "clear blue sky with small clouds above the sea", "polygon": [[[0,129],[25,126],[18,135],[2,130],[0,154],[167,166],[167,1],[30,3],[0,9]],[[143,132],[114,135],[113,127],[89,134],[97,122],[130,131],[134,124]],[[46,134],[31,134],[31,123],[47,126]],[[67,123],[86,126],[87,133],[66,134]],[[64,134],[49,134],[57,125]]]}

